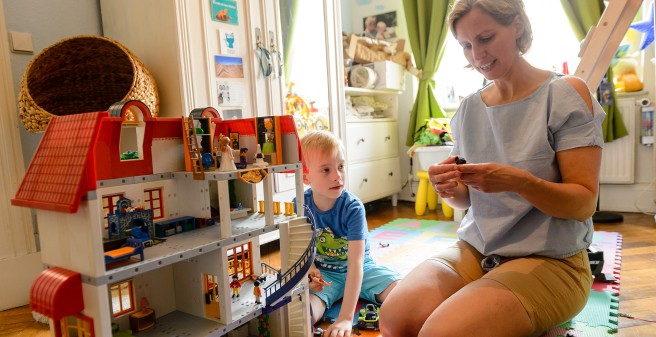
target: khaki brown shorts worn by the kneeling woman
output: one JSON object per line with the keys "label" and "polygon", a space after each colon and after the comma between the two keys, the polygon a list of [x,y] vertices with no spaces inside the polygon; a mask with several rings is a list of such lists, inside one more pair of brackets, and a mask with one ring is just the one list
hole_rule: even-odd
{"label": "khaki brown shorts worn by the kneeling woman", "polygon": [[483,258],[474,247],[458,241],[431,259],[446,264],[466,283],[486,278],[510,289],[524,305],[534,333],[567,322],[588,300],[592,275],[587,251],[564,259],[510,259],[487,273],[481,268]]}

